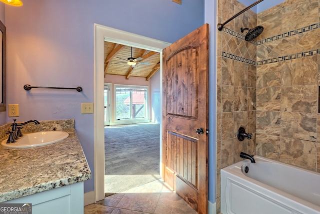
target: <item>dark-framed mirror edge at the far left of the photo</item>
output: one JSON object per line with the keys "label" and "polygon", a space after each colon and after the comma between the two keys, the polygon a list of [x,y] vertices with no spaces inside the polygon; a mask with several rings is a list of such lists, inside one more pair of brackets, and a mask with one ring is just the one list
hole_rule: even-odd
{"label": "dark-framed mirror edge at the far left of the photo", "polygon": [[0,21],[0,31],[2,31],[2,102],[0,103],[0,112],[5,111],[5,63],[6,63],[6,29],[5,25]]}

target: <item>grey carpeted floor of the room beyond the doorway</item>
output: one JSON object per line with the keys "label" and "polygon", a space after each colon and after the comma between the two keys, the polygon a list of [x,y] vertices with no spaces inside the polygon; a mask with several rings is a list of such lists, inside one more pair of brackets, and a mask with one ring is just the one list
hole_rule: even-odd
{"label": "grey carpeted floor of the room beyond the doorway", "polygon": [[104,192],[118,193],[161,178],[159,124],[104,128]]}

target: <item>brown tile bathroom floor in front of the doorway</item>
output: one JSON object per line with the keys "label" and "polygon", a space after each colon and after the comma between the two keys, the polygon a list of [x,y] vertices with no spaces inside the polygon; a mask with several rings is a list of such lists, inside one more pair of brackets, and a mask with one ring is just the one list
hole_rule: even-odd
{"label": "brown tile bathroom floor in front of the doorway", "polygon": [[196,214],[180,196],[168,188],[162,179],[110,195],[84,206],[84,214]]}

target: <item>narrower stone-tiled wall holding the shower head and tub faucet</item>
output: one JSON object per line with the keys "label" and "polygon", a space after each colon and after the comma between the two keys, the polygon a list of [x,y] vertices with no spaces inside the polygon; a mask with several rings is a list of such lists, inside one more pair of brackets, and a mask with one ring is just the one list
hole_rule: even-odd
{"label": "narrower stone-tiled wall holding the shower head and tub faucet", "polygon": [[[219,0],[218,22],[223,23],[245,6]],[[216,100],[216,213],[220,212],[220,169],[241,160],[241,151],[255,153],[256,44],[246,42],[240,28],[254,28],[257,15],[251,10],[227,23],[217,32]],[[242,126],[252,139],[238,141]]]}

